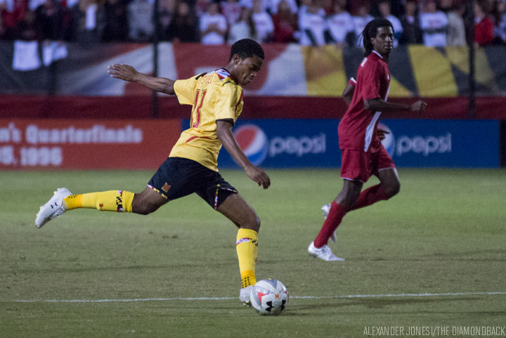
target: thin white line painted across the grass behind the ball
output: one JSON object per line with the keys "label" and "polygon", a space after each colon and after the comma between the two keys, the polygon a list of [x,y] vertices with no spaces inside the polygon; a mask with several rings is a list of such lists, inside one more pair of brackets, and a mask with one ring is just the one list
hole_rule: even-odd
{"label": "thin white line painted across the grass behind the ball", "polygon": [[[506,292],[448,292],[421,294],[348,294],[342,296],[290,296],[292,299],[343,299],[343,298],[388,298],[388,297],[447,297],[447,296],[494,296],[504,295]],[[221,301],[237,299],[237,297],[181,297],[181,298],[134,298],[134,299],[17,299],[15,303],[111,303],[132,301]],[[0,300],[4,301],[4,300]]]}

